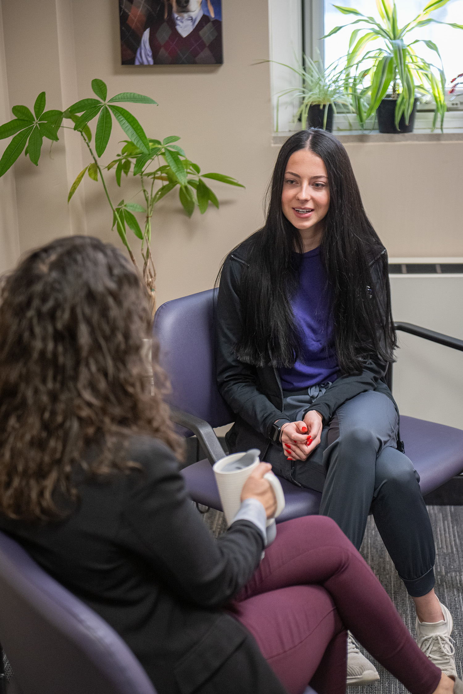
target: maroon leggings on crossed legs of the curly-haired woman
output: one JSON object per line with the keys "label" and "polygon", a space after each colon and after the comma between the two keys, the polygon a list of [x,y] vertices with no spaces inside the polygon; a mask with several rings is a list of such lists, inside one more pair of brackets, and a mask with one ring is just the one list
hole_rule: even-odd
{"label": "maroon leggings on crossed legs of the curly-haired woman", "polygon": [[289,694],[346,691],[346,629],[412,694],[441,670],[418,648],[373,571],[325,516],[280,523],[228,611],[253,634]]}

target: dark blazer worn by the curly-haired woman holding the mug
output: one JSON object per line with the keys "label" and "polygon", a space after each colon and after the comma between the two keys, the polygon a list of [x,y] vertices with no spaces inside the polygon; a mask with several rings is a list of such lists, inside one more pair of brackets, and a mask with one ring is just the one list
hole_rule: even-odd
{"label": "dark blazer worn by the curly-haired woman holding the mug", "polygon": [[80,502],[64,520],[0,514],[0,530],[119,632],[159,694],[284,694],[251,634],[221,610],[259,564],[259,530],[237,521],[214,540],[158,439],[133,439],[127,457],[142,471],[76,474]]}

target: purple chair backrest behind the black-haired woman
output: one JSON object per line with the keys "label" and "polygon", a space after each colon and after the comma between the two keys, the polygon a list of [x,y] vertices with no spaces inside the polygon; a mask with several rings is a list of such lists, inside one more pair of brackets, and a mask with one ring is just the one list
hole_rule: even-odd
{"label": "purple chair backrest behind the black-haired woman", "polygon": [[167,301],[154,316],[153,336],[160,364],[171,382],[167,401],[212,427],[234,421],[217,389],[214,359],[214,306],[217,289]]}

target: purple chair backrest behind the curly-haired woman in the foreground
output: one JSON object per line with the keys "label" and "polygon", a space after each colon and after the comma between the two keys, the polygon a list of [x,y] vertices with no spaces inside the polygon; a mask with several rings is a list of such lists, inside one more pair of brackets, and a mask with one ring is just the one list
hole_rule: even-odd
{"label": "purple chair backrest behind the curly-haired woman in the foreground", "polygon": [[21,694],[156,694],[119,634],[2,532],[0,643]]}

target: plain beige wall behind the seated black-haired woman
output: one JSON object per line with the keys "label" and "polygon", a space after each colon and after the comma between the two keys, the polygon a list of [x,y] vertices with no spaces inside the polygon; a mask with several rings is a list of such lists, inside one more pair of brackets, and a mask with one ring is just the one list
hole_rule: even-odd
{"label": "plain beige wall behind the seated black-haired woman", "polygon": [[[109,94],[149,94],[157,107],[132,107],[149,137],[180,135],[187,155],[203,171],[221,171],[246,185],[243,190],[213,184],[220,210],[211,208],[203,217],[196,210],[190,220],[175,195],[160,203],[152,246],[162,303],[212,286],[222,257],[262,222],[262,197],[278,153],[271,146],[269,68],[253,65],[269,55],[267,0],[223,1],[221,67],[121,66],[117,5],[117,0],[1,0],[7,96],[10,104],[31,108],[44,89],[47,108],[64,108],[92,95],[93,77],[106,81]],[[115,124],[105,162],[122,137]],[[76,232],[120,243],[110,230],[99,184],[85,178],[67,205],[72,180],[89,162],[77,138],[67,131],[51,155],[44,146],[37,169],[24,157],[15,164],[21,252]],[[347,149],[389,255],[463,256],[456,204],[463,144],[348,144]],[[108,174],[108,180],[116,202],[136,192],[131,180],[124,180],[123,191],[114,176]],[[13,251],[4,255],[4,266],[15,259],[14,220],[7,226]]]}

